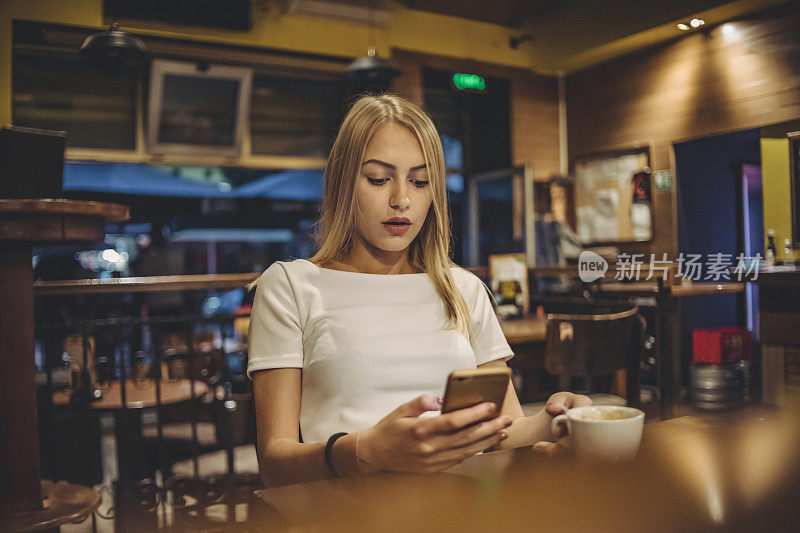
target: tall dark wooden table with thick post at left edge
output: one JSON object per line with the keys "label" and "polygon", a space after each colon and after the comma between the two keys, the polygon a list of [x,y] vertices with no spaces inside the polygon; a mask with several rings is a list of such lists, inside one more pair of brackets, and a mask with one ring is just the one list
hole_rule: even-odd
{"label": "tall dark wooden table with thick post at left edge", "polygon": [[[22,176],[4,179],[25,179]],[[0,200],[0,513],[42,509],[33,365],[35,244],[103,241],[128,208],[75,200]]]}

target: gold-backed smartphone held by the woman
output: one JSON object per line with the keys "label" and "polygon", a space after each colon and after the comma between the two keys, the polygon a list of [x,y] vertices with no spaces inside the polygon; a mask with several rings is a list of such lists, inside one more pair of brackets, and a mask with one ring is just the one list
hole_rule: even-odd
{"label": "gold-backed smartphone held by the woman", "polygon": [[492,402],[497,406],[494,414],[497,416],[503,409],[510,379],[511,369],[508,367],[454,370],[447,376],[442,413]]}

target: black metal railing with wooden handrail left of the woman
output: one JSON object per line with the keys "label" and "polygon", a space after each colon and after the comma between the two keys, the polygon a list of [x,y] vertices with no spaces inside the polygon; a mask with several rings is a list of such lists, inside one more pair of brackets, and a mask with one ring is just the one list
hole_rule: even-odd
{"label": "black metal railing with wooden handrail left of the woman", "polygon": [[220,529],[255,513],[249,316],[147,313],[148,292],[254,279],[237,276],[36,285],[43,477],[100,485],[98,516],[115,531]]}

